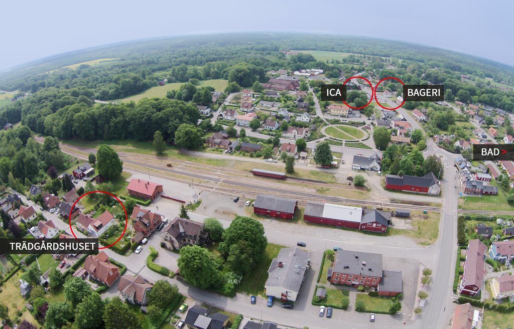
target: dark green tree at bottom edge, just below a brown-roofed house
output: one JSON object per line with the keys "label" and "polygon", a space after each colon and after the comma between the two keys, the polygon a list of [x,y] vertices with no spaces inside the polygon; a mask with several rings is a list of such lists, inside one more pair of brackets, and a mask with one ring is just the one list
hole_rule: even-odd
{"label": "dark green tree at bottom edge, just below a brown-roofed house", "polygon": [[136,313],[119,297],[112,298],[104,307],[105,329],[139,329],[141,321]]}

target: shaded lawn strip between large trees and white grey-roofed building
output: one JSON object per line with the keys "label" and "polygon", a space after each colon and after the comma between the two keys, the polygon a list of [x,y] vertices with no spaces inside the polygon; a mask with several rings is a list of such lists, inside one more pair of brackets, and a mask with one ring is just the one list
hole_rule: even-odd
{"label": "shaded lawn strip between large trees and white grey-roofed building", "polygon": [[284,246],[268,242],[264,257],[255,265],[250,273],[245,275],[243,282],[237,290],[248,295],[264,295],[264,284],[268,279],[269,265],[271,264],[271,260],[277,257],[281,248],[284,248]]}

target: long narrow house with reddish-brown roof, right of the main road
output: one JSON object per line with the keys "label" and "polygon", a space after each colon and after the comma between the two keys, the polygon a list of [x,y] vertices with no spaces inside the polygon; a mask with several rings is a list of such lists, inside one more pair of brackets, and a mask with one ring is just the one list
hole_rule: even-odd
{"label": "long narrow house with reddish-brown roof, right of the main road", "polygon": [[485,244],[478,239],[469,241],[464,262],[464,274],[458,286],[460,294],[476,296],[482,290],[485,275],[484,255],[487,250]]}

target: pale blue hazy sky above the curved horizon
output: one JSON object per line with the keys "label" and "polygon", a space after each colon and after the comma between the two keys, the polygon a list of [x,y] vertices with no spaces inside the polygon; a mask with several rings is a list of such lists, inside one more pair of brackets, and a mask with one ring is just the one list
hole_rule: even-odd
{"label": "pale blue hazy sky above the curved horizon", "polygon": [[514,66],[510,0],[18,0],[2,12],[0,70],[121,41],[245,31],[386,38]]}

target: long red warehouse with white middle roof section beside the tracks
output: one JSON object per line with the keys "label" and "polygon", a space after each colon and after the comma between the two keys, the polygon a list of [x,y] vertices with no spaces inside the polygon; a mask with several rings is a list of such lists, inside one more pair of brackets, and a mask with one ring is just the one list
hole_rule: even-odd
{"label": "long red warehouse with white middle roof section beside the tracks", "polygon": [[376,209],[362,209],[331,203],[307,202],[303,220],[310,223],[355,228],[386,233],[391,213]]}

